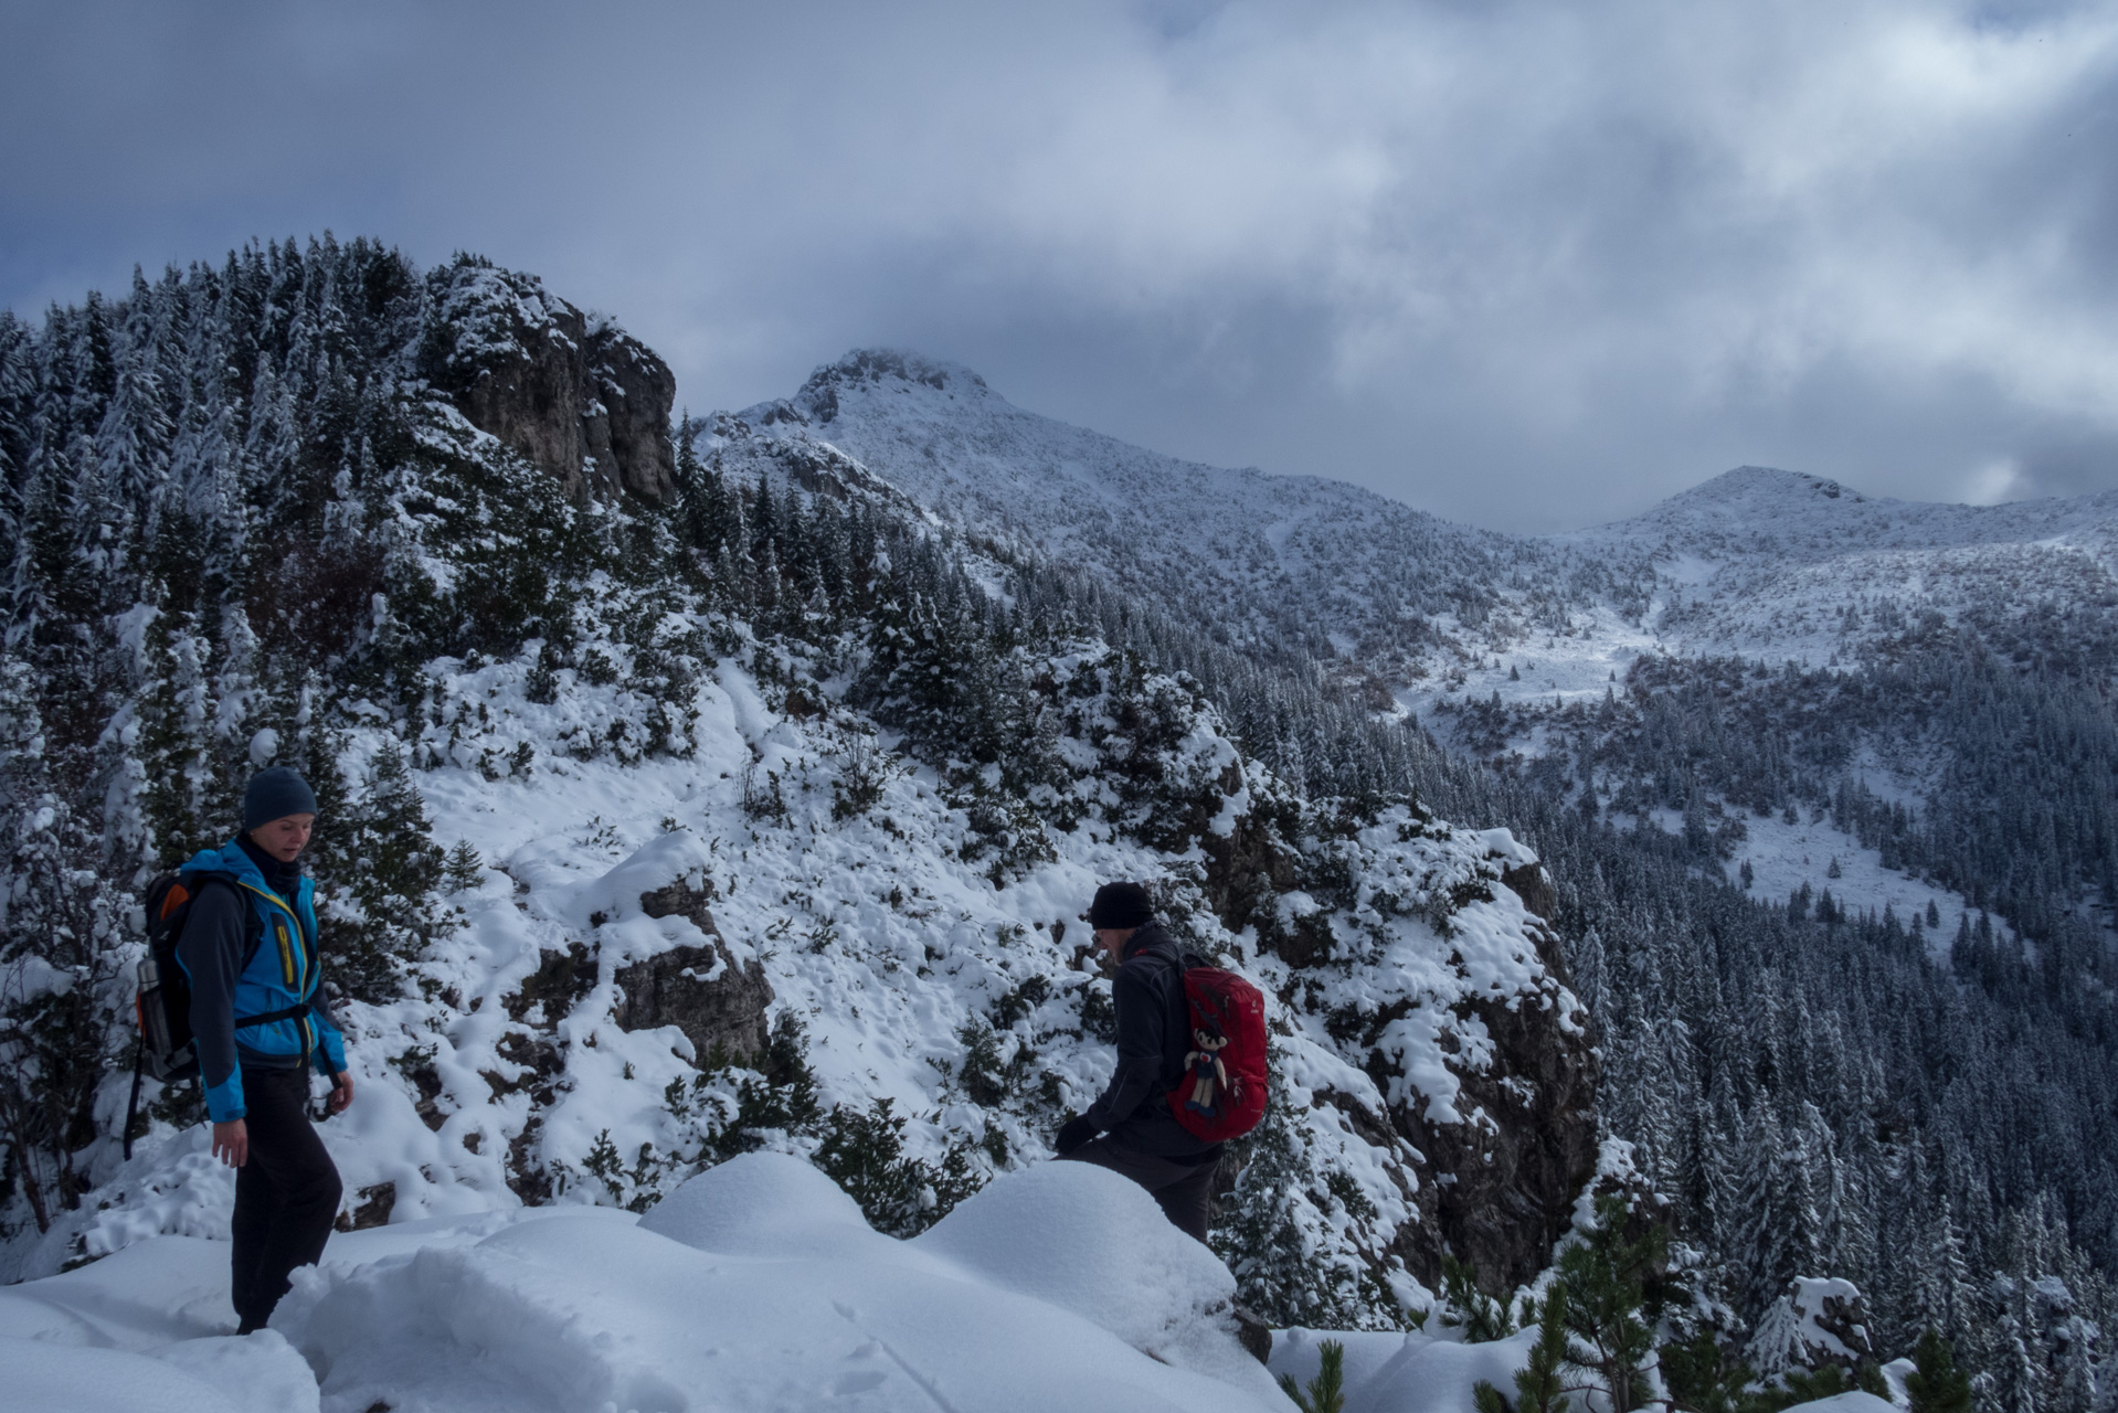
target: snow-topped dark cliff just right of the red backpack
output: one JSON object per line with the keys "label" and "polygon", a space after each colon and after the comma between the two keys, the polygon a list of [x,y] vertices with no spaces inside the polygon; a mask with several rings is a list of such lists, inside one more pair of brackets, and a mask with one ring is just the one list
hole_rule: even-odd
{"label": "snow-topped dark cliff just right of the red backpack", "polygon": [[[1408,813],[1315,824],[1290,841],[1245,820],[1205,849],[1203,892],[1222,926],[1254,930],[1288,966],[1281,996],[1322,1013],[1339,1057],[1372,1080],[1315,1102],[1404,1165],[1417,1220],[1377,1254],[1436,1286],[1447,1252],[1512,1290],[1550,1263],[1597,1165],[1599,1066],[1544,924],[1552,883],[1502,830]],[[1406,945],[1421,932],[1438,947]]]}

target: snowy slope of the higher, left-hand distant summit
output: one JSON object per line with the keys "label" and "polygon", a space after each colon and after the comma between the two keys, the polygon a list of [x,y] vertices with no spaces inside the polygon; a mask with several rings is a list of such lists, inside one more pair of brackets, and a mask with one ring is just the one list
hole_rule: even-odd
{"label": "snowy slope of the higher, left-hand distant summit", "polygon": [[1644,561],[1451,525],[1343,481],[1146,451],[915,354],[854,352],[741,417],[830,443],[953,525],[1095,568],[1235,642],[1336,646],[1385,680],[1478,657],[1597,591],[1631,602],[1646,583]]}

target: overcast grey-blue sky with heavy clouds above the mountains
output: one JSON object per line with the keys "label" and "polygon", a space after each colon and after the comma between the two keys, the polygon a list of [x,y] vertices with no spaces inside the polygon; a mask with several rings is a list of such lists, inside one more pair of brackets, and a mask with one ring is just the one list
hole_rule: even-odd
{"label": "overcast grey-blue sky with heavy clouds above the mountains", "polygon": [[1506,530],[2118,487],[2118,4],[0,0],[0,305],[366,233]]}

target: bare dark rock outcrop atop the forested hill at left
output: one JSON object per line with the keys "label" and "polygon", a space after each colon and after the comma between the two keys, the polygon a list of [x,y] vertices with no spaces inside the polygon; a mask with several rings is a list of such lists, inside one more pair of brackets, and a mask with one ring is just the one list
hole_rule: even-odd
{"label": "bare dark rock outcrop atop the forested hill at left", "polygon": [[428,275],[421,373],[481,432],[559,477],[570,496],[676,494],[676,375],[616,324],[536,275],[460,256]]}

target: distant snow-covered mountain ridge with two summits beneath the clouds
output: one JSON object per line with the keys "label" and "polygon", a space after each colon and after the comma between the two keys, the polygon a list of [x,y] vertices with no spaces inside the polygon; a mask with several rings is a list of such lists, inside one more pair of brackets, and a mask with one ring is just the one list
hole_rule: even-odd
{"label": "distant snow-covered mountain ridge with two summits beneath the clouds", "polygon": [[1415,710],[1527,691],[1531,657],[1569,663],[1540,688],[1601,693],[1652,652],[1828,663],[1966,614],[2118,604],[2118,494],[1925,504],[1737,466],[1631,519],[1510,536],[1343,481],[1161,455],[904,350],[854,350],[739,417],[1182,625],[1336,657]]}

